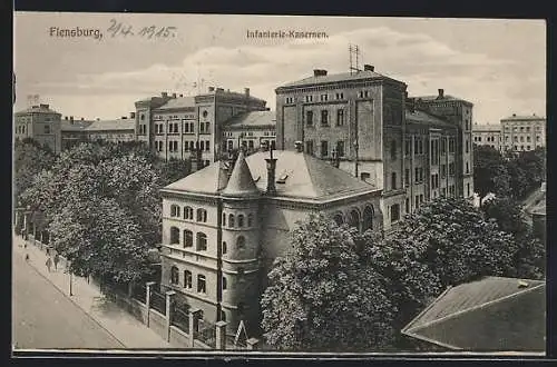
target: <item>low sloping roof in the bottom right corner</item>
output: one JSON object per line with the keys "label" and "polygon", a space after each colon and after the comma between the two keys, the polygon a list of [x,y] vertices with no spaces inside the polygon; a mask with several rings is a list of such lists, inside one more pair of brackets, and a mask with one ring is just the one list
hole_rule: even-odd
{"label": "low sloping roof in the bottom right corner", "polygon": [[486,277],[451,287],[401,333],[440,350],[543,353],[546,282]]}

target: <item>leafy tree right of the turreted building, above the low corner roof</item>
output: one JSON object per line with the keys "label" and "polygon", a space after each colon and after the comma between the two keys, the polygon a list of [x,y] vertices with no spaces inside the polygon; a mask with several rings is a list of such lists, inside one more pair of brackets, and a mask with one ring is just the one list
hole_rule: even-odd
{"label": "leafy tree right of the turreted building, above the low corner roof", "polygon": [[462,198],[428,202],[407,217],[395,236],[416,244],[417,260],[439,277],[443,288],[512,272],[512,236]]}

